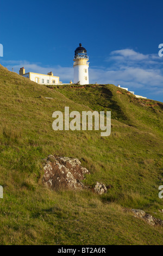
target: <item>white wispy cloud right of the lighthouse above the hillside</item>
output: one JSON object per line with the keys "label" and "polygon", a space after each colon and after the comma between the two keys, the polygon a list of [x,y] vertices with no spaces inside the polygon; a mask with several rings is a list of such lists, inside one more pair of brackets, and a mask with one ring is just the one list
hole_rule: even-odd
{"label": "white wispy cloud right of the lighthouse above the hillside", "polygon": [[94,72],[98,81],[100,77],[97,78],[97,75],[102,74],[103,83],[109,78],[109,82],[135,90],[136,94],[143,91],[149,95],[158,95],[160,92],[163,99],[163,58],[158,54],[142,54],[132,49],[117,50],[110,53],[106,62],[106,72]]}

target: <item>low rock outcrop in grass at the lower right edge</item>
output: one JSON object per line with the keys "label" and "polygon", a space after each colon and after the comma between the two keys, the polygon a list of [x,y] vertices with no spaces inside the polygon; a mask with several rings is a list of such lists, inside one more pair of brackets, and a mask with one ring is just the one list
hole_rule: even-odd
{"label": "low rock outcrop in grass at the lower right edge", "polygon": [[134,214],[136,215],[136,217],[140,217],[143,218],[143,220],[145,220],[148,224],[150,225],[159,225],[161,227],[163,227],[163,221],[160,220],[159,218],[154,218],[152,215],[146,214],[145,211],[142,210],[132,210],[134,212]]}

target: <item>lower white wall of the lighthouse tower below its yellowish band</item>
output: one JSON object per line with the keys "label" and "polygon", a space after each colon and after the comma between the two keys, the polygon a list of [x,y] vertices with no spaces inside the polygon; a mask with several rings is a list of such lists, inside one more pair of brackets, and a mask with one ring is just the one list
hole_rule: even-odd
{"label": "lower white wall of the lighthouse tower below its yellowish band", "polygon": [[[89,66],[87,65],[75,65],[74,68],[74,83],[80,81],[80,84],[89,84]],[[85,72],[86,70],[86,72]],[[86,80],[87,77],[87,80]]]}

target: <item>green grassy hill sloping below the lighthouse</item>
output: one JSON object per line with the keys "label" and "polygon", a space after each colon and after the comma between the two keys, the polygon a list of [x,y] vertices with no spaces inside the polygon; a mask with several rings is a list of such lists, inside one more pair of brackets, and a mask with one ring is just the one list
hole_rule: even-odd
{"label": "green grassy hill sloping below the lighthouse", "polygon": [[[112,84],[46,87],[1,65],[0,88],[1,245],[163,244],[163,229],[130,211],[163,219],[161,102],[136,99]],[[65,106],[111,111],[111,135],[53,131],[52,113]],[[111,188],[102,196],[48,190],[41,179],[49,154],[77,157],[91,173],[86,185],[99,181]]]}

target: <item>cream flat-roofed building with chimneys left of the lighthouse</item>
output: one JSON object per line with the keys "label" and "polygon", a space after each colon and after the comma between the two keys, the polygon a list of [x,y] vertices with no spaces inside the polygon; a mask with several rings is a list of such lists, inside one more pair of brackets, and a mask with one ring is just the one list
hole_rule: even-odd
{"label": "cream flat-roofed building with chimneys left of the lighthouse", "polygon": [[26,73],[23,67],[20,69],[19,74],[39,84],[61,84],[61,82],[59,82],[59,76],[53,76],[52,72],[49,72],[47,75],[37,74],[33,72]]}

